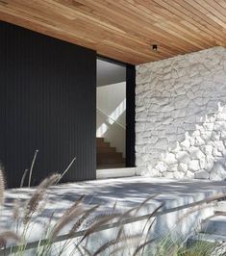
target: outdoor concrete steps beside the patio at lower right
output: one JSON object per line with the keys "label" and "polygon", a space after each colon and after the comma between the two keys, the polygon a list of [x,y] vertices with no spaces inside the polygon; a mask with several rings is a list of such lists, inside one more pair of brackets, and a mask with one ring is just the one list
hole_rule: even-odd
{"label": "outdoor concrete steps beside the patio at lower right", "polygon": [[205,219],[200,232],[188,239],[188,244],[193,243],[217,243],[226,255],[226,200],[218,202],[213,217]]}

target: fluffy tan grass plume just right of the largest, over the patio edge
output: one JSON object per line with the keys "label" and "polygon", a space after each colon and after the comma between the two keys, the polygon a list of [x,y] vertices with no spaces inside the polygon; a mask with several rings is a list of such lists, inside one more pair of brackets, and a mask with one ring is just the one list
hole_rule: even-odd
{"label": "fluffy tan grass plume just right of the largest, over the patio edge", "polygon": [[78,200],[66,210],[66,212],[63,214],[62,218],[58,220],[55,227],[53,228],[52,234],[50,236],[50,240],[53,241],[59,232],[63,229],[63,227],[69,223],[71,220],[73,220],[76,217],[81,216],[84,214],[84,208],[80,206],[80,203],[83,201],[85,195],[82,195],[78,198]]}

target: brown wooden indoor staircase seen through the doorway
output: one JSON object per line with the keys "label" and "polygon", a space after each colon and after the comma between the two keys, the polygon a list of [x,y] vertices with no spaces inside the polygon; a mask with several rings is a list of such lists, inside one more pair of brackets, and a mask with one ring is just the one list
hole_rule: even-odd
{"label": "brown wooden indoor staircase seen through the doorway", "polygon": [[110,142],[104,141],[104,138],[96,138],[96,164],[98,169],[125,167],[125,159]]}

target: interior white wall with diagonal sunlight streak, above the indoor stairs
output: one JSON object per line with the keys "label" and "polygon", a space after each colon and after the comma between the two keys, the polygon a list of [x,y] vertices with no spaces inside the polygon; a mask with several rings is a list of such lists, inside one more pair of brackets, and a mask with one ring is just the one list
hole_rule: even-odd
{"label": "interior white wall with diagonal sunlight streak, above the indoor stairs", "polygon": [[96,93],[96,137],[111,142],[125,157],[126,82],[98,87]]}

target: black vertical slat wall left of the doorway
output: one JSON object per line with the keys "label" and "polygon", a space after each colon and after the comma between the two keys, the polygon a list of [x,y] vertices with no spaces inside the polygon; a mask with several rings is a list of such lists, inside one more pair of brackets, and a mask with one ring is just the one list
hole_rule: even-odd
{"label": "black vertical slat wall left of the doorway", "polygon": [[[0,22],[0,160],[18,187],[35,151],[32,184],[95,178],[96,53]],[[26,181],[27,182],[27,181]]]}

